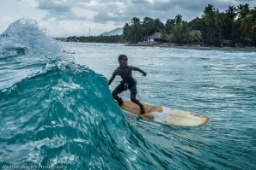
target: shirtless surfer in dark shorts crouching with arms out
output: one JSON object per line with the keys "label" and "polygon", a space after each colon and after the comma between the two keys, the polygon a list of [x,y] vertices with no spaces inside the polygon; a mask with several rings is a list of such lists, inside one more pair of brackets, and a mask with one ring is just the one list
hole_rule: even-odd
{"label": "shirtless surfer in dark shorts crouching with arms out", "polygon": [[113,98],[118,101],[119,106],[124,104],[124,101],[121,97],[118,96],[118,94],[129,89],[131,91],[131,102],[136,103],[140,107],[140,114],[144,114],[145,108],[143,107],[143,104],[136,99],[137,81],[136,79],[132,78],[132,70],[143,73],[143,76],[147,75],[147,73],[143,72],[143,70],[138,67],[128,66],[128,57],[125,55],[120,55],[119,67],[117,67],[116,70],[113,72],[112,77],[108,81],[108,85],[111,85],[116,75],[121,76],[122,81],[112,92]]}

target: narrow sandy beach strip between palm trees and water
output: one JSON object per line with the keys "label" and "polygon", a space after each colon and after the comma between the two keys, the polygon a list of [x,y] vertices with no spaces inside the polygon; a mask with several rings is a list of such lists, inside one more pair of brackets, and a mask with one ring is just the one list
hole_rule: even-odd
{"label": "narrow sandy beach strip between palm trees and water", "polygon": [[168,44],[126,44],[125,46],[141,46],[141,47],[164,47],[174,49],[191,49],[191,50],[229,50],[229,51],[253,51],[256,52],[256,48],[253,47],[205,47],[205,46],[180,46],[180,45],[168,45]]}

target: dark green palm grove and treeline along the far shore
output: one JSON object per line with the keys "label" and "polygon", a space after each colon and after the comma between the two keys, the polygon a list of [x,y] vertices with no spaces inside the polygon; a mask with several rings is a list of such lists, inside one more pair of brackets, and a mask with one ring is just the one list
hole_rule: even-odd
{"label": "dark green palm grove and treeline along the far shore", "polygon": [[[249,3],[229,6],[220,12],[212,4],[204,8],[201,17],[184,21],[178,14],[163,23],[159,18],[144,17],[143,20],[133,17],[125,23],[122,35],[81,36],[58,38],[64,41],[97,42],[97,43],[131,43],[148,41],[150,35],[161,32],[161,42],[179,45],[194,42],[208,46],[254,47],[256,44],[256,7]],[[169,38],[169,40],[166,40]],[[228,42],[228,43],[227,43]]]}

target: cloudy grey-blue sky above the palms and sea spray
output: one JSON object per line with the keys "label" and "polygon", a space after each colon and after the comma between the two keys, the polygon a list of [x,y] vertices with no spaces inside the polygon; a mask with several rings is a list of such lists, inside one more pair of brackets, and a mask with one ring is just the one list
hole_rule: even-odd
{"label": "cloudy grey-blue sky above the palms and sea spray", "polygon": [[180,14],[191,21],[203,15],[207,4],[221,12],[229,5],[255,0],[0,0],[0,33],[14,21],[25,17],[37,21],[52,37],[99,35],[122,27],[136,16],[167,19]]}

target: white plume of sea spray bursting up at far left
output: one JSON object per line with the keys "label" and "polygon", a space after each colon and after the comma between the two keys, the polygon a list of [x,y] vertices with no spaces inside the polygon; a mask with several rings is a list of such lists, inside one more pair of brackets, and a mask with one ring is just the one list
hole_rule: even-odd
{"label": "white plume of sea spray bursting up at far left", "polygon": [[26,50],[30,56],[37,58],[55,59],[60,47],[57,41],[46,36],[37,22],[21,18],[15,21],[3,32],[0,38],[0,51]]}

